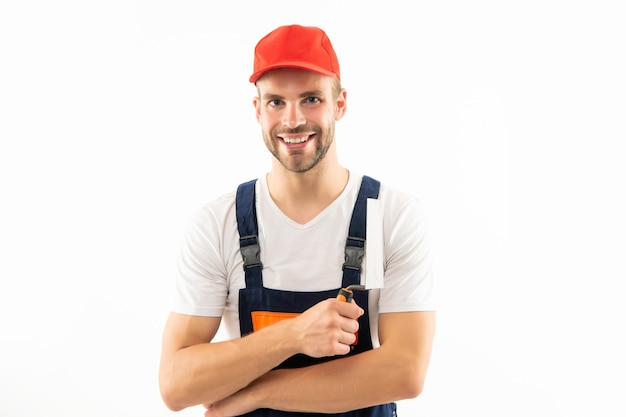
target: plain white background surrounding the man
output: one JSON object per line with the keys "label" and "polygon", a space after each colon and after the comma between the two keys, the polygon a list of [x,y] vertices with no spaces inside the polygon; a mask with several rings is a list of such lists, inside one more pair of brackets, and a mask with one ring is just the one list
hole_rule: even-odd
{"label": "plain white background surrounding the man", "polygon": [[179,243],[269,168],[247,78],[290,23],[338,52],[342,163],[430,216],[438,332],[400,415],[626,415],[619,3],[2,2],[0,415],[202,415],[157,387]]}

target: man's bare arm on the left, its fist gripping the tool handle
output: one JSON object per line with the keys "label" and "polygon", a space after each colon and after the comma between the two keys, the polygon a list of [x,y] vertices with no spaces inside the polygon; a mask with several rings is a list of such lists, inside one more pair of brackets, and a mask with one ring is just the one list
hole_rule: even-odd
{"label": "man's bare arm on the left, its fist gripping the tool handle", "polygon": [[172,313],[163,334],[159,384],[172,410],[232,395],[296,353],[345,354],[362,310],[323,301],[300,316],[240,339],[211,343],[220,318]]}

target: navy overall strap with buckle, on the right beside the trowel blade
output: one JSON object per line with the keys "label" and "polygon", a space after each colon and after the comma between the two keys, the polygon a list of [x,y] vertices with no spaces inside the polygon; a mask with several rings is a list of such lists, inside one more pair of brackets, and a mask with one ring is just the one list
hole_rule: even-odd
{"label": "navy overall strap with buckle, on the right beside the trowel blade", "polygon": [[342,286],[361,283],[361,264],[365,255],[365,229],[367,224],[367,199],[378,198],[380,182],[363,176],[361,188],[354,204],[348,238],[346,239],[345,262],[343,264]]}

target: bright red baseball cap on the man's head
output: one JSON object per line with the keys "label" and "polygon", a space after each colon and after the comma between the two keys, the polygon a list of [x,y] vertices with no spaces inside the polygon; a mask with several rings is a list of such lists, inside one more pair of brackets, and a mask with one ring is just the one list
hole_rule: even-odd
{"label": "bright red baseball cap on the man's head", "polygon": [[255,83],[276,68],[300,68],[339,77],[339,61],[326,33],[312,26],[281,26],[267,34],[254,48]]}

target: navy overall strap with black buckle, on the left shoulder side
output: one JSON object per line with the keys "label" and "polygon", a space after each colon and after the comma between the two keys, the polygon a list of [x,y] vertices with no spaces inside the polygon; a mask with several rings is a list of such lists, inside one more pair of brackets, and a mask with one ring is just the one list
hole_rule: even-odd
{"label": "navy overall strap with black buckle, on the left shoulder side", "polygon": [[235,212],[239,230],[239,250],[243,257],[243,270],[246,273],[246,288],[261,288],[263,277],[261,270],[261,248],[256,219],[256,179],[237,187]]}

